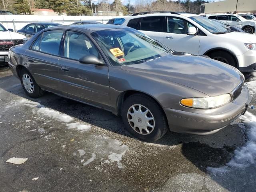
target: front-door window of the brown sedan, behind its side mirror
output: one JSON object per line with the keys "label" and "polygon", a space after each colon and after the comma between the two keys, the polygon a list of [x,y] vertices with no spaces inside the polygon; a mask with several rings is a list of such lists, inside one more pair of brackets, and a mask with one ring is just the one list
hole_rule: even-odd
{"label": "front-door window of the brown sedan, behind its side mirror", "polygon": [[64,42],[64,57],[79,60],[90,54],[99,57],[98,50],[92,41],[84,34],[67,31]]}

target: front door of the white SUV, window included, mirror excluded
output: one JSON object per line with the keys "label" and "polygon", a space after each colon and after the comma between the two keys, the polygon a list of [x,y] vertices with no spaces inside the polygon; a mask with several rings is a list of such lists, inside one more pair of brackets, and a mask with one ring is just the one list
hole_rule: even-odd
{"label": "front door of the white SUV, window included, mirror excluded", "polygon": [[179,52],[199,54],[199,36],[188,35],[188,28],[193,27],[188,21],[168,16],[167,32],[164,33],[164,45]]}

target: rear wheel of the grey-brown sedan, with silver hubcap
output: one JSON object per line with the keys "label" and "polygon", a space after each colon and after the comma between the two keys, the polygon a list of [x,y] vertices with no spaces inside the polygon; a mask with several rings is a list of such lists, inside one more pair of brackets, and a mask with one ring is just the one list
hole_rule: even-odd
{"label": "rear wheel of the grey-brown sedan, with silver hubcap", "polygon": [[20,71],[20,82],[25,93],[32,97],[38,98],[44,94],[44,91],[38,86],[33,76],[26,69]]}

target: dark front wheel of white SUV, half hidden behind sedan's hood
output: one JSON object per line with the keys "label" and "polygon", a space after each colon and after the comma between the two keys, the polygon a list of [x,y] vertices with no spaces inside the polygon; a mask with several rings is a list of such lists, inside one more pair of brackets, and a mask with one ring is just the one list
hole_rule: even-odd
{"label": "dark front wheel of white SUV, half hidden behind sedan's hood", "polygon": [[223,63],[229,64],[233,67],[236,66],[236,60],[232,56],[232,54],[225,52],[225,51],[216,51],[208,54],[208,56],[212,59],[215,59],[217,61],[221,61]]}

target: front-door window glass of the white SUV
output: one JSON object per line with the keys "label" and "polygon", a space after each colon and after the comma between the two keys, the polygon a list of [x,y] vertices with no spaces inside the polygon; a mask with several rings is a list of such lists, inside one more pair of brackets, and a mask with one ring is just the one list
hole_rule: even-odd
{"label": "front-door window glass of the white SUV", "polygon": [[174,17],[168,17],[167,32],[176,34],[187,34],[188,28],[193,27],[186,20]]}

